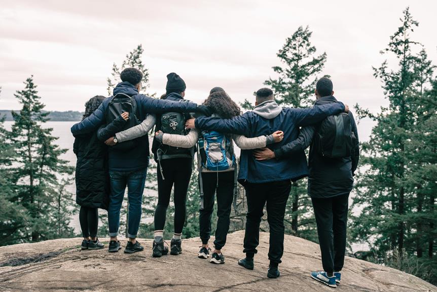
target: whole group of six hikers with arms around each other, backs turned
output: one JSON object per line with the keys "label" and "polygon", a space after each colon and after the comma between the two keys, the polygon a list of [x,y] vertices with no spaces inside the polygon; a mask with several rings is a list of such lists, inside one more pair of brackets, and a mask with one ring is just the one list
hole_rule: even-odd
{"label": "whole group of six hikers with arms around each other, backs turned", "polygon": [[[81,248],[104,247],[97,238],[98,208],[108,212],[111,237],[108,251],[122,248],[118,232],[127,187],[129,240],[124,252],[143,250],[136,236],[150,157],[148,133],[155,126],[152,152],[157,162],[158,204],[154,217],[154,257],[168,252],[178,255],[182,251],[187,191],[197,155],[202,240],[199,258],[211,256],[211,263],[225,263],[222,250],[238,181],[245,188],[248,209],[245,257],[238,265],[253,270],[260,223],[267,205],[270,229],[267,276],[277,278],[291,183],[309,176],[308,194],[314,207],[324,270],[312,272],[311,277],[332,287],[339,284],[346,247],[348,197],[359,149],[355,121],[348,107],[334,98],[332,81],[318,80],[312,108],[281,107],[271,89],[261,88],[256,92],[254,109],[241,114],[222,87],[212,88],[203,104],[197,105],[184,99],[186,84],[177,74],[167,75],[166,93],[161,99],[139,93],[142,77],[135,68],[123,70],[122,82],[114,88],[113,96],[94,96],[85,104],[83,120],[71,127],[78,157],[76,201],[81,205],[84,236]],[[326,135],[331,117],[337,130]],[[352,139],[346,141],[344,137],[349,136]],[[233,141],[241,149],[238,174]],[[326,150],[329,143],[336,145],[334,150]],[[304,150],[308,146],[307,163]],[[173,188],[174,233],[168,248],[163,231]],[[218,218],[210,254],[215,197]]]}

